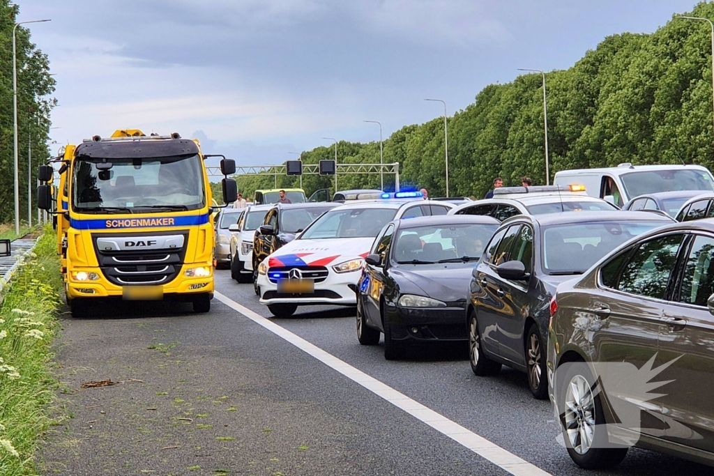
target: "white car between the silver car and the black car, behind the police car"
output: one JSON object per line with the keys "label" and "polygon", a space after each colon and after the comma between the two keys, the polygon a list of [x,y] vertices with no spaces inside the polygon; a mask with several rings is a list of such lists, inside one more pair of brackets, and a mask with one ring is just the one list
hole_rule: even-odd
{"label": "white car between the silver car and the black car, behind the police car", "polygon": [[231,278],[238,283],[253,280],[253,236],[263,223],[272,204],[253,205],[245,208],[243,215],[228,227],[231,231]]}

